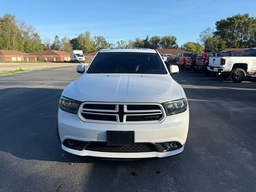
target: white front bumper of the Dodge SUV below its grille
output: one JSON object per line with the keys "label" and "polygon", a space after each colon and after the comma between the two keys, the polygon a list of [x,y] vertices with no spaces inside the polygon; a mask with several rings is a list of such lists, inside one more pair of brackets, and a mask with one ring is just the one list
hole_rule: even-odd
{"label": "white front bumper of the Dodge SUV below its grille", "polygon": [[[58,110],[58,130],[62,149],[80,156],[103,158],[152,158],[179,154],[184,149],[188,134],[189,108],[183,113],[167,116],[161,123],[155,124],[102,124],[82,122],[77,115]],[[162,143],[175,141],[182,147],[166,152],[98,152],[75,150],[63,145],[64,140],[72,139],[85,142],[106,142],[106,131],[134,131],[135,143]]]}

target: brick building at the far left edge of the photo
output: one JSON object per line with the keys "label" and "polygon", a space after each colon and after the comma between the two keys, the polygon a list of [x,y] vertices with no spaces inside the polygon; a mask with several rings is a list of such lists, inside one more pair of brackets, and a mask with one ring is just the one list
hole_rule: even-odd
{"label": "brick building at the far left edge of the photo", "polygon": [[24,55],[27,53],[12,50],[0,50],[0,62],[1,61],[24,61]]}

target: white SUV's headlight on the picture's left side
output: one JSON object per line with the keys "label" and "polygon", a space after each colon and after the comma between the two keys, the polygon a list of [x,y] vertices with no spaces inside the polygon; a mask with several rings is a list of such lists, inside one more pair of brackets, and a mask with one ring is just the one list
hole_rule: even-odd
{"label": "white SUV's headlight on the picture's left side", "polygon": [[82,102],[80,101],[72,100],[64,96],[61,96],[59,101],[60,109],[72,114],[77,114],[78,108],[80,107],[81,103]]}

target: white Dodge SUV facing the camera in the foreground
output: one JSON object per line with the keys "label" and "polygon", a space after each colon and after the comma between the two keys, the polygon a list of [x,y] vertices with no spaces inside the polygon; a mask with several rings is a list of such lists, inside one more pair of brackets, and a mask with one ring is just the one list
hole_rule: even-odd
{"label": "white Dodge SUV facing the camera in the foreground", "polygon": [[62,92],[58,138],[80,156],[152,158],[179,154],[188,134],[182,87],[160,54],[146,48],[103,49]]}

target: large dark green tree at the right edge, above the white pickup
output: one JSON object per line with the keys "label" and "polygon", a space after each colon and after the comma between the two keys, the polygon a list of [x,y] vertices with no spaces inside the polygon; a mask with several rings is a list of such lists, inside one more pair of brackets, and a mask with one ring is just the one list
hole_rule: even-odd
{"label": "large dark green tree at the right edge, above the white pickup", "polygon": [[215,36],[226,41],[229,48],[256,46],[256,18],[237,14],[216,21]]}

